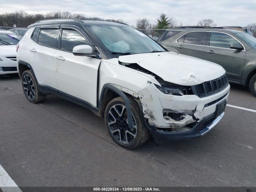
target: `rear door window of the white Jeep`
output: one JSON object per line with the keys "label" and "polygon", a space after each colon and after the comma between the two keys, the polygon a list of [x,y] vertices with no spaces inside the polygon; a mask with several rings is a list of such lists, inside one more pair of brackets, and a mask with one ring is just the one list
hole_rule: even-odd
{"label": "rear door window of the white Jeep", "polygon": [[44,46],[57,48],[58,29],[41,29],[38,43]]}

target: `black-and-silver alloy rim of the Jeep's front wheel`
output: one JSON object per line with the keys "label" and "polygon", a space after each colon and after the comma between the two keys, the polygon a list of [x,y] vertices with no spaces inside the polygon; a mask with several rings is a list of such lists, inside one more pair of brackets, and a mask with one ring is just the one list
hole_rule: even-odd
{"label": "black-and-silver alloy rim of the Jeep's front wheel", "polygon": [[122,144],[132,143],[137,135],[137,124],[132,115],[132,128],[128,126],[126,107],[116,104],[108,111],[108,128],[111,134]]}

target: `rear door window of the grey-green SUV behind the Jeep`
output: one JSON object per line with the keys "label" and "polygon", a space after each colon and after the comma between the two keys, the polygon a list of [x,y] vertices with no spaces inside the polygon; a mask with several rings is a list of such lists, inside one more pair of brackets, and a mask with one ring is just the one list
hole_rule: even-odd
{"label": "rear door window of the grey-green SUV behind the Jeep", "polygon": [[189,32],[185,35],[184,43],[205,45],[208,32]]}

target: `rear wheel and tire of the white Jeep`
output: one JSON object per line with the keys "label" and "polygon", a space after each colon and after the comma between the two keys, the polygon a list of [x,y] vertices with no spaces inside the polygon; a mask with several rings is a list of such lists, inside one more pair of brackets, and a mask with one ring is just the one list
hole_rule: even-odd
{"label": "rear wheel and tire of the white Jeep", "polygon": [[39,103],[46,99],[38,89],[38,84],[31,70],[26,70],[22,74],[22,88],[26,98],[32,103]]}

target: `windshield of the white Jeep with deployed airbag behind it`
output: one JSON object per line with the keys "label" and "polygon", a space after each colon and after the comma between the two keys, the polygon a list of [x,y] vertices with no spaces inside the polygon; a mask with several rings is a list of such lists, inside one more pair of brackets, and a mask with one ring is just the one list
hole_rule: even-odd
{"label": "windshield of the white Jeep with deployed airbag behind it", "polygon": [[165,52],[159,44],[130,26],[87,26],[112,54]]}

